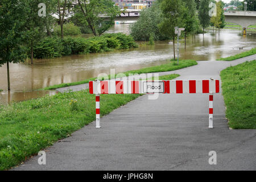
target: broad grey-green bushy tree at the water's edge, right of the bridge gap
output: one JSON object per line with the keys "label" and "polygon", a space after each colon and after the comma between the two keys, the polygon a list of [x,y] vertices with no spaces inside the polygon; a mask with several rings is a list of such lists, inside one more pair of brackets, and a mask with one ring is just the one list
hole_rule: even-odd
{"label": "broad grey-green bushy tree at the water's edge, right of the bridge gap", "polygon": [[160,10],[160,3],[155,2],[150,8],[141,11],[141,15],[137,22],[131,24],[131,36],[135,40],[149,40],[150,36],[154,40],[167,40],[168,36],[161,34],[158,24],[162,22],[162,11]]}

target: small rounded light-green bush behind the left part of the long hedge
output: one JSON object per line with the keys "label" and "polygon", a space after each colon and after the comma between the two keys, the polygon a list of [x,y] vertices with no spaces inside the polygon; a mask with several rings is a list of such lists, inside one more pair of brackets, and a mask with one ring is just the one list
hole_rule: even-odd
{"label": "small rounded light-green bush behind the left part of the long hedge", "polygon": [[[60,25],[54,28],[53,34],[57,36],[61,36]],[[80,35],[81,30],[79,27],[75,26],[74,23],[65,23],[63,24],[63,34],[64,36]]]}

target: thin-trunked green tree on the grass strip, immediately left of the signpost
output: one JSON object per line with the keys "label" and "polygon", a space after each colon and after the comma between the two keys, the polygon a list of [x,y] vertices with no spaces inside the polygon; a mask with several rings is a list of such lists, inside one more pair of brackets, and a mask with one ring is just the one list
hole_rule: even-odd
{"label": "thin-trunked green tree on the grass strip, immediately left of the signpost", "polygon": [[174,44],[174,59],[175,58],[175,27],[181,27],[182,15],[185,7],[181,0],[162,0],[160,9],[163,11],[163,20],[159,23],[159,30],[162,34],[172,38]]}

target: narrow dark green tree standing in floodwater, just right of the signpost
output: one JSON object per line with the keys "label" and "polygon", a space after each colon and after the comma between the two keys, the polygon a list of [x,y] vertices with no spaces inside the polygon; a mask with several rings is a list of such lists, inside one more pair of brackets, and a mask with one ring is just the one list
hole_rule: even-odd
{"label": "narrow dark green tree standing in floodwater, just right of the signpost", "polygon": [[196,31],[196,3],[194,0],[185,0],[185,11],[183,14],[183,23],[185,28],[185,49],[187,45],[187,34]]}

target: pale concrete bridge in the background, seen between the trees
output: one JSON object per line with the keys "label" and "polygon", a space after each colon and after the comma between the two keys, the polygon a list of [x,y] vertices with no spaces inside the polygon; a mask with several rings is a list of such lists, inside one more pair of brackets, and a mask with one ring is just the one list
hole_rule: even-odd
{"label": "pale concrete bridge in the background, seen between the trees", "polygon": [[[117,16],[115,21],[136,21],[139,19],[139,13],[138,10],[126,10]],[[224,15],[226,22],[239,24],[243,28],[256,24],[256,11],[225,11]],[[105,18],[108,19],[106,16]]]}

